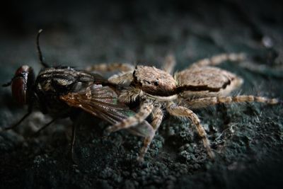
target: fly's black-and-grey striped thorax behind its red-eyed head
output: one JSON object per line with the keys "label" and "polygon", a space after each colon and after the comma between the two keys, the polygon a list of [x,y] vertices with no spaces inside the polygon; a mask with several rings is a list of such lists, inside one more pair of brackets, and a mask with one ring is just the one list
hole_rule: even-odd
{"label": "fly's black-and-grey striped thorax behind its red-eyed head", "polygon": [[91,74],[76,71],[71,67],[42,69],[35,80],[35,96],[42,113],[56,115],[70,109],[60,96],[86,88],[87,81],[93,81]]}

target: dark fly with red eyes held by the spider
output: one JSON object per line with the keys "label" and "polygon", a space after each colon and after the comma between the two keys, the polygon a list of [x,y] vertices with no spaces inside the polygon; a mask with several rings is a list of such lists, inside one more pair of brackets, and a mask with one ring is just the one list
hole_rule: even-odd
{"label": "dark fly with red eyes held by the spider", "polygon": [[[102,120],[114,125],[129,116],[134,115],[124,103],[117,99],[117,86],[109,83],[99,74],[77,70],[72,67],[50,67],[43,62],[39,45],[42,30],[37,33],[37,52],[42,69],[35,78],[33,68],[23,65],[16,70],[10,82],[3,86],[11,86],[13,98],[21,105],[28,105],[28,113],[11,127],[2,130],[11,130],[23,122],[33,112],[34,108],[44,114],[52,116],[52,121],[41,127],[40,132],[59,118],[73,118],[79,111],[91,113]],[[141,137],[153,135],[153,129],[148,122],[141,122],[142,127],[129,130]],[[74,154],[76,124],[72,126],[71,157]]]}

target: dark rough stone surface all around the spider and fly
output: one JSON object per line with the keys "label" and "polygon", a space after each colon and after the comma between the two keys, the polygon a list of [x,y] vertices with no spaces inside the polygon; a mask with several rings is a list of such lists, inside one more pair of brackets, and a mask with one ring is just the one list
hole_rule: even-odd
{"label": "dark rough stone surface all around the spider and fly", "polygon": [[[188,4],[9,3],[1,13],[0,76],[11,79],[22,64],[40,70],[35,35],[46,62],[83,69],[98,62],[161,67],[173,52],[175,70],[222,52],[246,52],[250,64],[226,62],[241,76],[243,94],[283,99],[282,6],[276,2],[214,1]],[[0,89],[0,127],[20,119],[26,108]],[[28,134],[50,120],[35,112],[15,131],[0,133],[0,188],[280,188],[282,105],[219,105],[197,110],[216,153],[207,159],[193,125],[166,116],[146,154],[135,159],[141,138],[121,131],[103,137],[107,123],[81,120],[74,166],[68,156],[71,121],[60,120],[35,139]]]}

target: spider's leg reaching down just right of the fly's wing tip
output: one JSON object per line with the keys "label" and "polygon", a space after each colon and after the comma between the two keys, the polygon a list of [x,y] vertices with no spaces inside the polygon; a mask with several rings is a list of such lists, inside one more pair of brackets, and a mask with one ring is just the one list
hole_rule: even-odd
{"label": "spider's leg reaching down just right of the fly's wing tip", "polygon": [[154,110],[152,111],[152,122],[151,126],[154,129],[154,134],[145,137],[144,139],[144,146],[141,148],[141,151],[139,152],[139,157],[138,161],[144,161],[144,155],[146,154],[146,151],[149,149],[149,146],[151,144],[152,139],[154,139],[156,130],[158,130],[158,127],[161,125],[161,122],[163,120],[163,111],[160,108],[160,105],[158,107],[155,107]]}

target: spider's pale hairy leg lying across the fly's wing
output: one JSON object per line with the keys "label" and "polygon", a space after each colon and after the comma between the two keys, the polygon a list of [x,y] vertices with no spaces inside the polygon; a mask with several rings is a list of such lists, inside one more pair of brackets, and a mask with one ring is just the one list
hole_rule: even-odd
{"label": "spider's pale hairy leg lying across the fly's wing", "polygon": [[139,123],[141,123],[142,121],[144,121],[149,116],[149,114],[152,112],[153,109],[154,109],[154,105],[152,101],[143,101],[141,102],[138,113],[136,113],[132,117],[122,120],[121,122],[117,122],[115,125],[108,127],[106,130],[108,132],[115,132],[117,130],[134,127]]}

